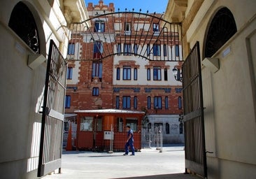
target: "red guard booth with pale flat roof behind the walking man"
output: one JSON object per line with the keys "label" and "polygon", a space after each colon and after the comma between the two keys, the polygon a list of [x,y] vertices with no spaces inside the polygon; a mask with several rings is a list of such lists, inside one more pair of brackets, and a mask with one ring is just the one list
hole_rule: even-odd
{"label": "red guard booth with pale flat roof behind the walking man", "polygon": [[78,150],[123,151],[127,141],[127,125],[134,131],[135,150],[141,150],[143,111],[99,109],[74,112],[78,115]]}

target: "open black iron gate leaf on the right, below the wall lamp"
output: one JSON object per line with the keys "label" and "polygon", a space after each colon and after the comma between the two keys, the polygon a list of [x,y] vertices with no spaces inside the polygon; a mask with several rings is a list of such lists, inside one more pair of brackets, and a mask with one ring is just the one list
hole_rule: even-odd
{"label": "open black iron gate leaf on the right, below the wall lamp", "polygon": [[199,42],[183,63],[185,168],[207,178]]}

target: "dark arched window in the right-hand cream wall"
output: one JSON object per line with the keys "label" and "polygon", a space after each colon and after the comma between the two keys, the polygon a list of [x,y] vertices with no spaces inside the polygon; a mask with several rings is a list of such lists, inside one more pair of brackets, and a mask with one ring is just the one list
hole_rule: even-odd
{"label": "dark arched window in the right-hand cream wall", "polygon": [[212,57],[229,38],[236,34],[236,22],[228,8],[221,8],[213,17],[206,38],[205,57]]}

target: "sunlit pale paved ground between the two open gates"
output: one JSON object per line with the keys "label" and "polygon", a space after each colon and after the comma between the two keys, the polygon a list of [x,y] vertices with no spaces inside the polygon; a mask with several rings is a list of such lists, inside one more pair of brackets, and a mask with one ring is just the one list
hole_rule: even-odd
{"label": "sunlit pale paved ground between the two open gates", "polygon": [[183,146],[143,149],[135,156],[123,156],[122,152],[63,152],[62,173],[57,171],[43,179],[199,179],[185,175]]}

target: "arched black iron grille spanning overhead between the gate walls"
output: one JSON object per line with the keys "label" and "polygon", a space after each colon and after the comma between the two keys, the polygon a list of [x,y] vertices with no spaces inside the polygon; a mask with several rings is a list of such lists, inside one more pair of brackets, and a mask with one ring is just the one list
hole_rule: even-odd
{"label": "arched black iron grille spanning overhead between the gate walls", "polygon": [[[78,47],[76,47],[76,52],[73,54],[73,57],[71,57],[71,59],[78,61],[95,60],[91,55],[91,52],[93,50],[91,48],[93,47],[91,47],[92,45],[90,45],[90,41],[92,40],[93,42],[101,41],[102,43],[106,43],[106,50],[105,48],[101,49],[101,47],[96,44],[97,49],[101,53],[101,57],[99,58],[100,60],[113,55],[128,54],[138,55],[138,58],[141,57],[150,61],[182,62],[183,58],[181,53],[179,55],[173,54],[173,47],[175,51],[175,45],[179,45],[179,47],[181,46],[181,24],[176,22],[167,22],[166,20],[162,19],[162,17],[163,14],[150,14],[148,12],[141,13],[141,10],[140,12],[134,12],[133,9],[132,12],[120,12],[118,10],[118,12],[106,13],[104,11],[103,14],[91,17],[84,22],[72,23],[70,24],[70,42],[78,45]],[[129,21],[129,23],[131,24],[131,30],[129,31],[129,33],[127,33],[126,29],[122,29],[121,24],[124,20],[125,22],[128,22],[128,18],[131,18],[131,21]],[[93,20],[100,21],[102,19],[106,20],[106,25],[104,26],[105,31],[92,31],[93,28],[90,26],[90,24],[93,23]],[[143,22],[141,22],[141,20],[143,20]],[[158,24],[159,31],[157,31],[157,34],[155,31],[152,31],[152,23]],[[141,24],[142,28],[138,24]],[[145,26],[145,24],[147,24],[147,26]],[[136,28],[134,28],[135,25]],[[85,43],[85,48],[80,49],[81,47],[83,47],[83,43]],[[120,52],[114,52],[113,50],[118,50],[118,44],[122,43],[131,45],[130,48],[132,48],[133,44],[132,50],[129,49],[127,50],[127,52],[124,52],[124,50],[121,48]],[[134,48],[136,44],[138,45],[138,48],[135,52]],[[166,55],[164,55],[164,57],[155,57],[156,55],[151,55],[153,47],[150,48],[150,54],[146,55],[148,50],[147,48],[145,48],[145,46],[147,44],[166,45]],[[100,49],[102,50],[102,52]],[[139,52],[139,50],[141,51]]]}

